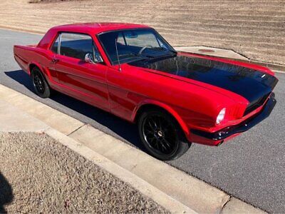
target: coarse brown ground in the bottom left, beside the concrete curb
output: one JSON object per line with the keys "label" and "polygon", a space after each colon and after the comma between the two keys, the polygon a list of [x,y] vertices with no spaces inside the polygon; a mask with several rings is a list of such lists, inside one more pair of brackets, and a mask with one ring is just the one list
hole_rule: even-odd
{"label": "coarse brown ground in the bottom left, beside the concrete curb", "polygon": [[4,209],[167,213],[127,183],[40,133],[0,133],[0,213]]}

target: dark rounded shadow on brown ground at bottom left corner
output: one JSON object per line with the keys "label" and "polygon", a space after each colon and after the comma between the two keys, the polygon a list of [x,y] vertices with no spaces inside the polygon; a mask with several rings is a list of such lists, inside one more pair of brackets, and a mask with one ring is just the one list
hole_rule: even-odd
{"label": "dark rounded shadow on brown ground at bottom left corner", "polygon": [[13,190],[8,180],[0,172],[0,213],[7,213],[4,205],[8,205],[14,199]]}

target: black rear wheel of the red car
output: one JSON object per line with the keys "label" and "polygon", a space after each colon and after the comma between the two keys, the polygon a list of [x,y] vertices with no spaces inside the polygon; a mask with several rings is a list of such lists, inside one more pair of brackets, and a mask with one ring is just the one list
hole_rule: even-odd
{"label": "black rear wheel of the red car", "polygon": [[48,86],[48,82],[39,68],[33,68],[31,71],[31,78],[33,81],[33,88],[38,96],[41,98],[48,98],[51,96],[51,88]]}

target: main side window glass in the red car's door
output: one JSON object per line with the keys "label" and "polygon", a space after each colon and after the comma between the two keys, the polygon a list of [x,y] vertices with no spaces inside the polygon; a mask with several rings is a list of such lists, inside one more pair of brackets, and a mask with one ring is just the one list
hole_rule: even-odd
{"label": "main side window glass in the red car's door", "polygon": [[59,54],[81,60],[86,54],[94,56],[92,38],[85,34],[62,33]]}

